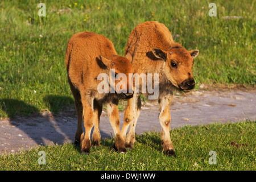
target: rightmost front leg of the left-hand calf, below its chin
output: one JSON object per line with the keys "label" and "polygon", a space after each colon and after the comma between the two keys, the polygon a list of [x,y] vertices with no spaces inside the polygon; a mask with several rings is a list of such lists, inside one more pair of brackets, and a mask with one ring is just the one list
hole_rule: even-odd
{"label": "rightmost front leg of the left-hand calf, below its chin", "polygon": [[109,115],[110,124],[114,130],[115,148],[117,148],[119,152],[126,152],[125,142],[120,135],[120,120],[119,120],[119,114],[118,114],[118,105],[109,103],[107,105],[107,111]]}

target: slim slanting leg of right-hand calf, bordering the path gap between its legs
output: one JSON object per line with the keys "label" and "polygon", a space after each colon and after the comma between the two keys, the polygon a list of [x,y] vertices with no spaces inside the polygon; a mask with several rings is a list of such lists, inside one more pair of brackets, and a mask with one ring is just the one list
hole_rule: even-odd
{"label": "slim slanting leg of right-hand calf, bordering the path gap between its legs", "polygon": [[141,113],[141,97],[138,96],[137,98],[137,104],[135,106],[135,118],[133,122],[130,125],[129,133],[127,134],[126,140],[125,140],[125,147],[132,149],[135,142],[135,127],[139,118],[139,114]]}

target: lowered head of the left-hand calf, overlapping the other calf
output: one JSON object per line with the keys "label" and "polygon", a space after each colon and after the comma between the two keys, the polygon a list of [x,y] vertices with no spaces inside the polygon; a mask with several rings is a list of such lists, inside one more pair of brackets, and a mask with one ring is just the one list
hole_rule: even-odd
{"label": "lowered head of the left-hand calf, overlapping the other calf", "polygon": [[108,60],[100,56],[102,63],[109,70],[109,85],[114,88],[115,93],[122,99],[133,97],[132,75],[134,73],[131,60],[123,56],[113,56],[112,60]]}

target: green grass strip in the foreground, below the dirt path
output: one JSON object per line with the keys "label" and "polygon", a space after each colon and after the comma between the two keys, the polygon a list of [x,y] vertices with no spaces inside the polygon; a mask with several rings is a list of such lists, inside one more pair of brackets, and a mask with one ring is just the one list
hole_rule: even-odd
{"label": "green grass strip in the foreground, below the dirt path", "polygon": [[[89,155],[80,155],[73,144],[40,146],[15,155],[0,156],[0,170],[256,170],[256,122],[185,126],[170,131],[176,158],[160,146],[160,134],[137,136],[134,149],[126,154],[111,150],[113,139],[101,140]],[[46,152],[46,164],[39,165],[39,151]],[[209,164],[209,152],[216,152],[216,164]]]}

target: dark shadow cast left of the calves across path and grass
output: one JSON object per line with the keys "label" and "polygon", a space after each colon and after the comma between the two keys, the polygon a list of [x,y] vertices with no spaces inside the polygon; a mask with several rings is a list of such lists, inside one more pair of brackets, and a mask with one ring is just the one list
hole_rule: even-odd
{"label": "dark shadow cast left of the calves across path and grass", "polygon": [[[16,138],[16,135],[24,134],[34,140],[31,143],[42,146],[51,143],[73,142],[77,129],[77,115],[73,98],[49,95],[44,98],[44,102],[48,103],[51,112],[40,113],[37,107],[26,104],[24,101],[0,99],[0,109],[7,115],[10,124],[15,126],[14,130],[10,131],[10,136]],[[108,134],[101,131],[101,135],[107,136]],[[22,143],[19,138],[17,139],[17,144]]]}

